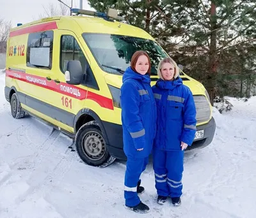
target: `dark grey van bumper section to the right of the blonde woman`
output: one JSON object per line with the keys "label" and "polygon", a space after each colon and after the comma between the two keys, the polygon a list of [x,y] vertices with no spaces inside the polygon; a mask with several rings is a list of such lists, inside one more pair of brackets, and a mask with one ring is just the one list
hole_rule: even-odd
{"label": "dark grey van bumper section to the right of the blonde woman", "polygon": [[214,137],[215,129],[216,129],[216,122],[214,118],[204,125],[196,126],[196,131],[204,129],[204,138],[200,138],[198,140],[194,140],[191,146],[188,147],[186,150],[192,149],[202,149],[209,145],[212,142]]}

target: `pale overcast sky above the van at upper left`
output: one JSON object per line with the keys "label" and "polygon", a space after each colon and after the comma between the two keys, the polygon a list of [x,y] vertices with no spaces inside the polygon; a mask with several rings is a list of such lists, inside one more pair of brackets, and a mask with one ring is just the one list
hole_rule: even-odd
{"label": "pale overcast sky above the van at upper left", "polygon": [[[63,0],[71,5],[71,0]],[[40,14],[44,14],[44,6],[49,3],[60,4],[57,0],[0,0],[0,18],[12,21],[12,27],[18,23],[26,24],[37,20]],[[80,0],[73,0],[73,8],[79,8]],[[83,9],[92,10],[86,0],[83,0]]]}

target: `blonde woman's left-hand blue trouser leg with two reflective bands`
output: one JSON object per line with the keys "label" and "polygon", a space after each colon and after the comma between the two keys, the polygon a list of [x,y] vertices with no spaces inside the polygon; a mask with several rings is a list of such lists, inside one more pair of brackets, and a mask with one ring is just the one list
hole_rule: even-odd
{"label": "blonde woman's left-hand blue trouser leg with two reflective bands", "polygon": [[166,151],[153,150],[153,168],[155,171],[157,194],[161,196],[169,196],[170,191],[167,184]]}

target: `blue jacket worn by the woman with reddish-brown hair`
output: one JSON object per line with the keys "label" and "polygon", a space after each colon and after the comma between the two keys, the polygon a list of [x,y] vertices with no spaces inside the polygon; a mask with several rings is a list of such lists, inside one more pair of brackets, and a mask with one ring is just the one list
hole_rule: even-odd
{"label": "blue jacket worn by the woman with reddish-brown hair", "polygon": [[148,75],[140,75],[131,67],[126,69],[121,87],[121,107],[125,155],[149,156],[156,136],[157,111]]}

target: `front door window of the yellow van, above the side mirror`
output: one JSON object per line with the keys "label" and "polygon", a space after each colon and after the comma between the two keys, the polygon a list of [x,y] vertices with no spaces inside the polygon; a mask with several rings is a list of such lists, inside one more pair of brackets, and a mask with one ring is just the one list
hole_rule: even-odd
{"label": "front door window of the yellow van, above the side mirror", "polygon": [[86,59],[74,36],[61,36],[61,71],[65,73],[68,61],[80,61],[84,72]]}

